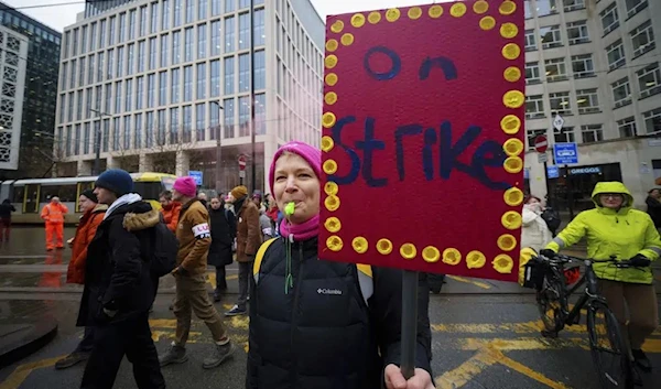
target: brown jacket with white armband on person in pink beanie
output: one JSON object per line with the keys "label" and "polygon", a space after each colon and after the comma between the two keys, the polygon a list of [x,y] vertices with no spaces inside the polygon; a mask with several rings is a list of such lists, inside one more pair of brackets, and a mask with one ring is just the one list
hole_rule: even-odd
{"label": "brown jacket with white armband on person in pink beanie", "polygon": [[193,198],[182,207],[176,240],[180,244],[176,264],[191,274],[205,273],[212,233],[209,213],[199,199]]}

